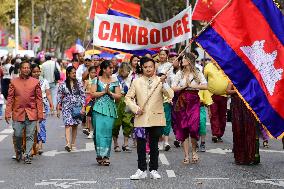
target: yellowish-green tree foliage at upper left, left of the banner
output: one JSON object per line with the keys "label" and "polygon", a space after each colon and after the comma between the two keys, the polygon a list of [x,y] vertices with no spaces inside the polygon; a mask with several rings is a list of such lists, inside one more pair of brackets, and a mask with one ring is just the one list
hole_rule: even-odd
{"label": "yellowish-green tree foliage at upper left, left of the banner", "polygon": [[[33,0],[35,26],[41,30],[41,48],[56,49],[63,52],[76,38],[83,38],[88,16],[88,7],[84,7],[80,0]],[[13,33],[14,25],[10,20],[14,18],[15,1],[0,0],[0,25]],[[90,0],[86,5],[90,4]],[[32,3],[31,0],[19,0],[19,24],[31,28]]]}

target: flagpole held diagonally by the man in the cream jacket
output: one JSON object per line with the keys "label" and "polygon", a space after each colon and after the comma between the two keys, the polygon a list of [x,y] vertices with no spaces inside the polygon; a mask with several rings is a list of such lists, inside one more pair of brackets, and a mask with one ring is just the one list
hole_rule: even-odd
{"label": "flagpole held diagonally by the man in the cream jacket", "polygon": [[[212,23],[213,21],[231,4],[233,0],[229,0],[224,7],[219,10],[215,16],[213,16],[213,18],[202,28],[202,30],[193,38],[190,39],[189,43],[186,45],[186,47],[179,53],[178,57],[174,60],[174,61],[178,61],[178,59],[182,56],[182,54],[191,46],[191,44],[193,43],[193,41],[195,41]],[[173,65],[171,67],[168,68],[168,70],[165,72],[165,75],[167,75],[167,73],[171,70],[171,68],[173,67]],[[144,104],[141,106],[141,110],[143,111],[146,104],[148,103],[149,99],[151,98],[151,96],[154,94],[155,90],[158,88],[158,86],[160,85],[160,82],[156,84],[156,86],[154,87],[154,89],[152,90],[152,92],[150,93],[150,95],[147,97],[146,101],[144,102]],[[139,115],[138,115],[139,116]]]}

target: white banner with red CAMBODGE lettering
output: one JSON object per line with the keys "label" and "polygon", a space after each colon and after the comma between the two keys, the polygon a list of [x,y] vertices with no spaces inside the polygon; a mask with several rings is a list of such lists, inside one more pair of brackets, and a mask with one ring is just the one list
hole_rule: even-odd
{"label": "white banner with red CAMBODGE lettering", "polygon": [[164,23],[96,14],[94,44],[125,50],[173,45],[192,37],[191,7]]}

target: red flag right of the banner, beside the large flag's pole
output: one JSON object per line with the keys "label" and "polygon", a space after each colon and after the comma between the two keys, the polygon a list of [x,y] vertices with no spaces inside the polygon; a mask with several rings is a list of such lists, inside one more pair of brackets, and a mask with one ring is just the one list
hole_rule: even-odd
{"label": "red flag right of the banner, beside the large flag's pole", "polygon": [[227,2],[228,0],[197,0],[192,20],[210,21]]}

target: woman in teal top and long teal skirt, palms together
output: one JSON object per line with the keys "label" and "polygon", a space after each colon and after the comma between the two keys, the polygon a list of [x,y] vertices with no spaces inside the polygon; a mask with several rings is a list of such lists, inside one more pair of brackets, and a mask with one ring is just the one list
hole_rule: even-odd
{"label": "woman in teal top and long teal skirt, palms together", "polygon": [[108,166],[112,143],[112,129],[117,118],[115,100],[121,97],[119,82],[112,77],[113,65],[105,60],[100,65],[99,77],[93,80],[91,94],[96,98],[92,113],[94,144],[97,162]]}

